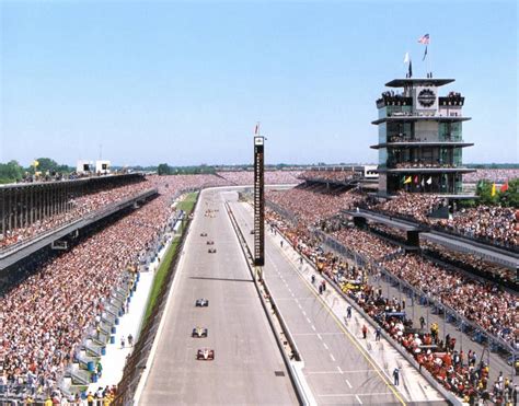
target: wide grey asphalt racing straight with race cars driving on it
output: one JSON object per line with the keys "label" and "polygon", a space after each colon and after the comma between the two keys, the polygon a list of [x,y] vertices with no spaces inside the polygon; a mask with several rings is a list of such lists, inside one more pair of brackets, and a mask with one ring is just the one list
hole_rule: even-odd
{"label": "wide grey asphalt racing straight with race cars driving on it", "polygon": [[[205,216],[207,209],[218,211]],[[172,289],[139,405],[298,404],[222,192],[201,193]],[[208,308],[195,306],[200,298]],[[192,338],[195,326],[207,327],[208,337]],[[214,361],[196,360],[204,347],[215,350]]]}

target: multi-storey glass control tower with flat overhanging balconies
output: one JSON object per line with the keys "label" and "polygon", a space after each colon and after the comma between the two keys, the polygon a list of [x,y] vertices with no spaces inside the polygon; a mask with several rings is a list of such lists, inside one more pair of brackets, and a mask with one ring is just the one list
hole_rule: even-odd
{"label": "multi-storey glass control tower with flat overhanging balconies", "polygon": [[465,98],[455,92],[439,96],[453,79],[394,79],[377,101],[379,119],[379,195],[400,190],[461,197],[462,149],[473,143],[462,137]]}

